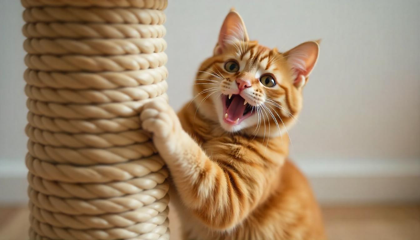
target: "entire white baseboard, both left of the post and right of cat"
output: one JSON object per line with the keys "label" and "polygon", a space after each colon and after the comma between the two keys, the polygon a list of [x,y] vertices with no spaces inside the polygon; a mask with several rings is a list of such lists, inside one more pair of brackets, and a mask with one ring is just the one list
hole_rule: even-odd
{"label": "entire white baseboard, both left of the post and right of cat", "polygon": [[[420,202],[420,159],[333,159],[295,161],[321,204]],[[23,160],[0,159],[0,205],[26,204]]]}

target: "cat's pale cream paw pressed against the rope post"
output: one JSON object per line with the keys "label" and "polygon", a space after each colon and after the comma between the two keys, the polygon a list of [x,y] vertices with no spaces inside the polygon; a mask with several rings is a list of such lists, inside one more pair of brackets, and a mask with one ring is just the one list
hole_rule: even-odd
{"label": "cat's pale cream paw pressed against the rope post", "polygon": [[154,140],[157,138],[167,141],[169,138],[176,138],[182,129],[178,116],[165,100],[146,103],[140,114],[140,121],[144,130],[152,132]]}

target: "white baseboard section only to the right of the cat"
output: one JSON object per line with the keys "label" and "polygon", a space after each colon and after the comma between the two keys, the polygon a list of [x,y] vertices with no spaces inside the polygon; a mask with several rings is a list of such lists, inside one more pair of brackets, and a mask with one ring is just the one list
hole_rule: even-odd
{"label": "white baseboard section only to the right of the cat", "polygon": [[420,159],[306,159],[296,164],[323,204],[420,202]]}

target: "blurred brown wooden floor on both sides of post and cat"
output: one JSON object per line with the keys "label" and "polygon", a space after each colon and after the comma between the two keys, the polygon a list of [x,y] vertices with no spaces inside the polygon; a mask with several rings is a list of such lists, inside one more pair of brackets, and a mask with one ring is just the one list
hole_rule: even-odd
{"label": "blurred brown wooden floor on both sides of post and cat", "polygon": [[[330,240],[420,240],[420,206],[324,207]],[[0,240],[26,240],[29,210],[0,207]]]}

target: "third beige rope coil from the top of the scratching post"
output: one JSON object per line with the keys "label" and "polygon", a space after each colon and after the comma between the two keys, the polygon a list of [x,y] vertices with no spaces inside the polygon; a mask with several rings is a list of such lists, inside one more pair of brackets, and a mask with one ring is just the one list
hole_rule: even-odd
{"label": "third beige rope coil from the top of the scratching post", "polygon": [[78,23],[29,23],[22,29],[25,37],[49,38],[154,38],[163,37],[163,25],[145,24],[78,24]]}

